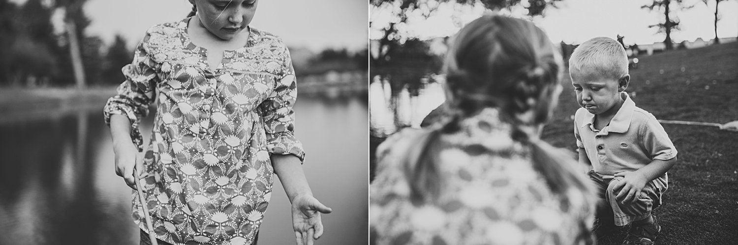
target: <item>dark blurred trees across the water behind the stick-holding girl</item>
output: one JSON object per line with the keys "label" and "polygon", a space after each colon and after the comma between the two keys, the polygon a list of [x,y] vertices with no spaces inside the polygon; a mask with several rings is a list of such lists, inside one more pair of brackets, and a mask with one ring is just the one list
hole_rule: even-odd
{"label": "dark blurred trees across the water behind the stick-holding girl", "polygon": [[[125,77],[124,65],[133,50],[121,35],[106,46],[100,37],[87,35],[91,24],[83,5],[86,0],[27,0],[15,4],[0,0],[0,87],[77,87],[117,85]],[[55,33],[52,15],[63,15],[63,30]],[[183,13],[183,16],[186,13]],[[311,54],[297,74],[323,70],[368,68],[368,49],[348,52],[325,49]]]}

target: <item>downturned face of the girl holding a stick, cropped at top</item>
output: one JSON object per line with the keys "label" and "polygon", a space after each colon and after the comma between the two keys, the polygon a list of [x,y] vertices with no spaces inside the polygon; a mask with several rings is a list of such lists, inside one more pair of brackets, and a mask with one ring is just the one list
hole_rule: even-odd
{"label": "downturned face of the girl holding a stick, cropped at top", "polygon": [[201,24],[222,40],[230,40],[251,23],[257,0],[190,0]]}

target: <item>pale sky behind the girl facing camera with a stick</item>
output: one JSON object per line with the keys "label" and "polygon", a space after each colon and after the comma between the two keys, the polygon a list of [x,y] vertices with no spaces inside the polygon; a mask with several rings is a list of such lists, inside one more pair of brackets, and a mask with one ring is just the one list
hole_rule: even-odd
{"label": "pale sky behind the girl facing camera with a stick", "polygon": [[[187,0],[89,0],[84,10],[92,24],[86,34],[107,44],[120,34],[133,47],[149,27],[181,20],[191,9]],[[272,32],[290,47],[359,51],[368,45],[367,19],[363,0],[260,0],[251,26]],[[61,15],[55,20],[61,21]]]}

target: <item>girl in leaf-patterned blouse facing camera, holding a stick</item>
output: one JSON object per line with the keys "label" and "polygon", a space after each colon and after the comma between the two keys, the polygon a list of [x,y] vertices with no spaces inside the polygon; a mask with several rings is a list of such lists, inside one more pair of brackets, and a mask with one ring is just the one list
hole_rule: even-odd
{"label": "girl in leaf-patterned blouse facing camera, holding a stick", "polygon": [[[293,135],[297,95],[289,52],[252,28],[258,0],[190,0],[188,18],[146,32],[127,78],[108,100],[116,173],[135,188],[159,244],[255,244],[272,196],[272,173],[292,202],[297,244],[323,234]],[[138,129],[156,102],[143,159]],[[134,174],[135,172],[135,174]],[[146,224],[134,191],[134,221]],[[147,231],[148,232],[148,231]],[[142,232],[142,244],[148,237]]]}

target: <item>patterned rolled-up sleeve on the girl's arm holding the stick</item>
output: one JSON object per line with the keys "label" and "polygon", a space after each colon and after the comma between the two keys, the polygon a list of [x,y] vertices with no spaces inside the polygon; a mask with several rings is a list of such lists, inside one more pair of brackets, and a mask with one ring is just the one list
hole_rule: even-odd
{"label": "patterned rolled-up sleeve on the girl's arm holding the stick", "polygon": [[117,94],[108,99],[103,114],[105,123],[110,126],[110,117],[120,114],[128,117],[131,121],[131,140],[143,149],[143,138],[139,130],[141,118],[148,115],[148,105],[156,99],[156,71],[155,62],[149,56],[145,43],[150,37],[147,32],[145,38],[139,43],[134,52],[134,60],[122,69],[125,81],[117,88]]}

